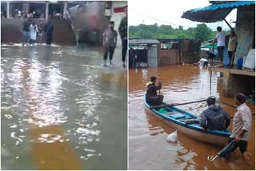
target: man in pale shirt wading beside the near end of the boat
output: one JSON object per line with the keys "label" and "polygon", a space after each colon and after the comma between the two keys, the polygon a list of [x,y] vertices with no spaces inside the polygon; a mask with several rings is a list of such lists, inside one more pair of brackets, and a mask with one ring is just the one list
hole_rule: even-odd
{"label": "man in pale shirt wading beside the near end of the boat", "polygon": [[[232,151],[239,147],[243,159],[246,160],[246,149],[248,141],[250,140],[252,117],[250,108],[246,105],[246,96],[244,94],[237,93],[234,97],[234,102],[238,105],[238,108],[237,112],[234,114],[233,128],[229,142],[235,139],[236,144]],[[229,157],[230,153],[226,155],[227,159]]]}

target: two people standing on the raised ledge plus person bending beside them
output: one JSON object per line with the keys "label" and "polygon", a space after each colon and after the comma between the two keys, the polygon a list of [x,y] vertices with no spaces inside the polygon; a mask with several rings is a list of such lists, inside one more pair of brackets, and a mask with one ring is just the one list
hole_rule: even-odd
{"label": "two people standing on the raised ledge plus person bending beside them", "polygon": [[[218,50],[218,58],[219,58],[219,65],[217,67],[223,67],[223,51],[225,49],[225,41],[226,41],[226,36],[222,32],[222,27],[218,26],[217,27],[217,34],[214,40],[211,42],[211,45],[214,45],[214,42],[217,42],[217,50]],[[238,37],[235,34],[234,30],[230,30],[230,39],[228,42],[228,56],[230,59],[230,62],[227,66],[234,66],[234,53],[236,52],[238,46]],[[210,65],[213,66],[213,60],[214,57],[209,57],[210,59]],[[208,66],[208,60],[205,58],[201,58],[199,62],[195,63],[195,65],[202,65],[203,67]]]}

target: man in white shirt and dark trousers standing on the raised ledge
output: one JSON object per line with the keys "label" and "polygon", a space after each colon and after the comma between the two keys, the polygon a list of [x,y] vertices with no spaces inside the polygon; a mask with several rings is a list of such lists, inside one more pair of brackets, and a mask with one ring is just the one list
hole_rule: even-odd
{"label": "man in white shirt and dark trousers standing on the raised ledge", "polygon": [[211,44],[213,45],[214,42],[217,41],[217,50],[218,50],[218,58],[220,64],[217,67],[223,67],[223,50],[225,48],[225,34],[222,33],[222,27],[217,27],[217,34]]}

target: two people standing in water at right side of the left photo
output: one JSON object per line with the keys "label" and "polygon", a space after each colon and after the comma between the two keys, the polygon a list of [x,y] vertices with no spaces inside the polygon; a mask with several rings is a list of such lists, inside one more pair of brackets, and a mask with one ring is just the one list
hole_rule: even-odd
{"label": "two people standing in water at right side of the left photo", "polygon": [[[118,32],[121,37],[122,41],[122,66],[123,68],[126,67],[126,51],[127,51],[127,7],[124,11],[126,16],[122,18],[120,25],[118,27]],[[108,28],[103,33],[103,46],[104,46],[104,54],[103,54],[103,60],[104,60],[104,66],[106,65],[106,60],[109,56],[110,58],[110,65],[113,65],[113,55],[114,50],[117,46],[117,39],[118,39],[118,32],[114,30],[114,22],[110,21],[110,24]]]}

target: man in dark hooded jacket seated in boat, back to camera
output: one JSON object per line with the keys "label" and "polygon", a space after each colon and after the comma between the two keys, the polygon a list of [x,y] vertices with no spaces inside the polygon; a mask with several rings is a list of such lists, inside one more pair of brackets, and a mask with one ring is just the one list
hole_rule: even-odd
{"label": "man in dark hooded jacket seated in boat, back to camera", "polygon": [[200,125],[204,129],[225,130],[230,125],[230,115],[220,106],[215,105],[215,97],[206,100],[208,109],[201,114]]}

